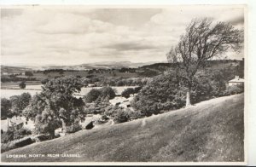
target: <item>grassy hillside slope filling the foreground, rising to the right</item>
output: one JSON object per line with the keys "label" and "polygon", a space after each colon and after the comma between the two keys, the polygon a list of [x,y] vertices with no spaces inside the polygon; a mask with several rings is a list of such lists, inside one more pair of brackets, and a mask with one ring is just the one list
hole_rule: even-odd
{"label": "grassy hillside slope filling the foreground, rising to the right", "polygon": [[[2,161],[243,161],[243,94],[83,130],[2,154]],[[6,154],[79,153],[80,158],[6,158]]]}

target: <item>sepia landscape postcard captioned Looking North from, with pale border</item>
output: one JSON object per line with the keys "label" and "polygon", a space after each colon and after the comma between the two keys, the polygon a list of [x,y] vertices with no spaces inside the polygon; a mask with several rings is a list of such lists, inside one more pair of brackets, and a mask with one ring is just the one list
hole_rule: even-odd
{"label": "sepia landscape postcard captioned Looking North from, with pale border", "polygon": [[245,164],[246,14],[1,7],[1,162]]}

